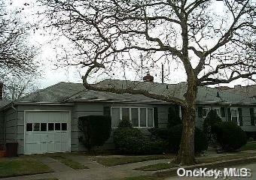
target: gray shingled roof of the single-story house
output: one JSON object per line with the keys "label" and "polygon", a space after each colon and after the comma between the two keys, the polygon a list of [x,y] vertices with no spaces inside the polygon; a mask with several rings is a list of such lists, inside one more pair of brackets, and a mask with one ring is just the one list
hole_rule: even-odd
{"label": "gray shingled roof of the single-story house", "polygon": [[[145,89],[150,93],[157,95],[166,95],[169,97],[184,100],[184,93],[187,89],[187,83],[162,84],[151,82],[127,81],[127,80],[103,80],[95,84],[100,87],[112,87],[119,89],[133,88]],[[232,103],[232,104],[255,104],[253,98],[227,91],[219,91],[220,98],[217,97],[218,89],[209,87],[199,87],[197,94],[197,103]],[[79,83],[57,83],[56,85],[41,89],[19,99],[20,102],[75,102],[75,101],[122,101],[122,102],[151,102],[166,103],[145,97],[144,95],[115,94],[110,92],[96,92],[84,89]]]}

